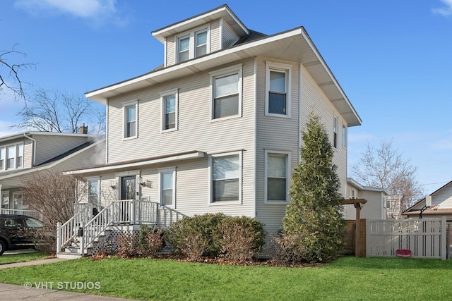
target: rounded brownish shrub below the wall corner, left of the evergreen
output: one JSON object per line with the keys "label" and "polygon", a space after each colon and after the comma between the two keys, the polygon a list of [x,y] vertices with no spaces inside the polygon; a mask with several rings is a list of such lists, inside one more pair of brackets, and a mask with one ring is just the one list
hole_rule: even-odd
{"label": "rounded brownish shrub below the wall corner, left of the evergreen", "polygon": [[227,216],[220,223],[222,256],[239,262],[252,260],[265,242],[263,223],[248,216]]}

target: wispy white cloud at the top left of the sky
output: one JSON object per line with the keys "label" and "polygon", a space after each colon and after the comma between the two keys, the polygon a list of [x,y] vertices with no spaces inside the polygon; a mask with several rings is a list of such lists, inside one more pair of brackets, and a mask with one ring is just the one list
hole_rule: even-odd
{"label": "wispy white cloud at the top left of the sky", "polygon": [[116,0],[16,0],[16,7],[33,15],[68,14],[99,23],[124,25],[115,6]]}

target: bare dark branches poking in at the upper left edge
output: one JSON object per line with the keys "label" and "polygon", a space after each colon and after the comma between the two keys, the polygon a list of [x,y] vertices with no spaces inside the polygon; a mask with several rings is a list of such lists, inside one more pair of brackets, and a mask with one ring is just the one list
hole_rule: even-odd
{"label": "bare dark branches poking in at the upper left edge", "polygon": [[[14,99],[25,99],[23,80],[20,73],[32,66],[34,63],[18,63],[20,57],[26,58],[27,54],[16,50],[15,44],[11,50],[0,50],[0,94],[13,94]],[[11,61],[16,61],[12,63]]]}

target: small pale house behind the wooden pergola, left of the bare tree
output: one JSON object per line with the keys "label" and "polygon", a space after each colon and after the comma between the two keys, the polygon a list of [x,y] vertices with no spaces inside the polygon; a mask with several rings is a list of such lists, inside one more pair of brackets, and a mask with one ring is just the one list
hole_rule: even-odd
{"label": "small pale house behind the wooden pergola, left of the bare tree", "polygon": [[[352,178],[347,178],[347,197],[350,199],[366,199],[362,206],[361,219],[386,219],[386,200],[388,192],[383,188],[363,186]],[[343,216],[347,220],[356,219],[356,209],[352,204],[344,206]]]}

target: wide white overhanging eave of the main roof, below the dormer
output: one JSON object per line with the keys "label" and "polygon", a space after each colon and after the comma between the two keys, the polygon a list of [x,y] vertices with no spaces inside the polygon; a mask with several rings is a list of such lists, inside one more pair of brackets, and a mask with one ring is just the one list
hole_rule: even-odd
{"label": "wide white overhanging eave of the main roof, below the dormer", "polygon": [[[288,39],[289,41],[284,43],[285,39]],[[294,41],[295,43],[293,43]],[[268,44],[272,43],[275,44],[274,46],[278,43],[285,44],[285,47],[283,49],[280,47],[271,47],[271,50],[269,50],[270,47],[268,47]],[[291,47],[294,47],[292,46],[294,44],[296,44],[295,47],[304,47],[305,51],[291,49]],[[287,47],[287,45],[290,46]],[[273,51],[275,53],[273,54],[269,51]],[[319,51],[316,49],[314,43],[311,41],[303,27],[281,32],[276,35],[262,37],[261,39],[256,39],[244,44],[223,49],[221,51],[213,52],[207,56],[184,61],[183,63],[178,63],[160,70],[155,70],[153,72],[146,73],[145,75],[125,80],[124,82],[119,82],[99,90],[87,92],[85,95],[89,99],[106,104],[108,98],[119,94],[142,89],[144,87],[150,87],[157,83],[165,82],[166,80],[189,76],[203,70],[218,67],[218,65],[232,63],[234,61],[239,61],[253,56],[268,56],[287,61],[299,61],[299,63],[302,63],[302,65],[307,68],[309,74],[313,76],[316,83],[319,85],[321,90],[323,90],[328,99],[330,99],[336,109],[338,109],[339,113],[343,115],[347,121],[347,126],[350,127],[362,124],[362,120],[357,111],[352,106],[342,87],[340,87],[338,81],[335,79],[333,73],[326,65],[326,62],[323,60]]]}

